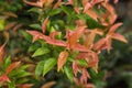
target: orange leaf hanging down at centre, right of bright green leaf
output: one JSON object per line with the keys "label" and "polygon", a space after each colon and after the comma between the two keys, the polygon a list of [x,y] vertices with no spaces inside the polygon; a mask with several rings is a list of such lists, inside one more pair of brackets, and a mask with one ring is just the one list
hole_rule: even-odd
{"label": "orange leaf hanging down at centre, right of bright green leaf", "polygon": [[57,61],[57,72],[59,72],[61,68],[64,66],[67,57],[68,57],[68,52],[67,51],[61,52],[61,54],[58,56],[58,61]]}

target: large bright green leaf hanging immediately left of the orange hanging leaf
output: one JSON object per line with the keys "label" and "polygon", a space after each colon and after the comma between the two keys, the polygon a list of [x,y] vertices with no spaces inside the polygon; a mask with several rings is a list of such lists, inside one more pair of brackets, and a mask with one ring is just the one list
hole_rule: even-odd
{"label": "large bright green leaf hanging immediately left of the orange hanging leaf", "polygon": [[44,64],[43,76],[47,74],[57,63],[56,58],[47,58]]}

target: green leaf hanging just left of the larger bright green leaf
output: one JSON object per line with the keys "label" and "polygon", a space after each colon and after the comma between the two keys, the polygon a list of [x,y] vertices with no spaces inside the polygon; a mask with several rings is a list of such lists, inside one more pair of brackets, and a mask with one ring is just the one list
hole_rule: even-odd
{"label": "green leaf hanging just left of the larger bright green leaf", "polygon": [[45,63],[45,61],[41,61],[41,62],[38,62],[38,64],[36,65],[36,68],[35,68],[35,75],[36,75],[36,76],[42,75],[43,68],[44,68],[44,63]]}

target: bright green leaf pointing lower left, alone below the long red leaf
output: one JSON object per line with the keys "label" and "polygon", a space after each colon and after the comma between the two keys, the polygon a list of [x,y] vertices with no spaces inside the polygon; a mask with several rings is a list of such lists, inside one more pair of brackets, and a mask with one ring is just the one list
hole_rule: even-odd
{"label": "bright green leaf pointing lower left, alone below the long red leaf", "polygon": [[35,53],[32,55],[32,57],[35,57],[35,56],[41,56],[41,55],[44,55],[44,54],[47,54],[50,53],[50,50],[46,48],[46,47],[40,47],[35,51]]}

